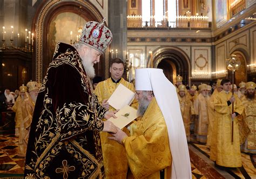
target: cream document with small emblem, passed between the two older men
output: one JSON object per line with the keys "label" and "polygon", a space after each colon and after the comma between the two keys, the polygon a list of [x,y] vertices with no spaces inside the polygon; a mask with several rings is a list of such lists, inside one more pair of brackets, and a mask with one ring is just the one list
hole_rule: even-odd
{"label": "cream document with small emblem, passed between the two older men", "polygon": [[117,118],[110,118],[108,121],[113,122],[115,126],[122,129],[137,118],[137,110],[126,105],[114,115],[116,115]]}

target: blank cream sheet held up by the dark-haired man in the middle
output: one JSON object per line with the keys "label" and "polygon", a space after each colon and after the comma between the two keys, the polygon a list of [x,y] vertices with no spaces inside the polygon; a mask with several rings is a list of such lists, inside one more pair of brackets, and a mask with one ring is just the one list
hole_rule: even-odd
{"label": "blank cream sheet held up by the dark-haired man in the middle", "polygon": [[135,93],[122,84],[119,84],[113,92],[109,100],[109,105],[115,109],[122,109],[126,105],[130,105]]}

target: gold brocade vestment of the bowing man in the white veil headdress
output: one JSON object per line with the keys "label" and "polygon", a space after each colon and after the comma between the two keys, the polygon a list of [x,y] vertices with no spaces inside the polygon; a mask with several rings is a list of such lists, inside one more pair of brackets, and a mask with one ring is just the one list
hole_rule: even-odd
{"label": "gold brocade vestment of the bowing man in the white veil headdress", "polygon": [[[172,156],[164,116],[155,98],[152,99],[141,120],[131,125],[131,136],[124,146],[129,167],[135,178],[171,178]],[[130,175],[129,175],[130,176]]]}

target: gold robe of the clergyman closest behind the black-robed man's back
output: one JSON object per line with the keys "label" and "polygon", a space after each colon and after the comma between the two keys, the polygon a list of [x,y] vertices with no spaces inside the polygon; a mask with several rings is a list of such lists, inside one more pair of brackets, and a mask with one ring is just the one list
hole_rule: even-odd
{"label": "gold robe of the clergyman closest behind the black-robed man's back", "polygon": [[30,95],[28,98],[22,101],[22,120],[19,128],[19,146],[18,155],[26,156],[26,147],[29,140],[30,125],[32,122],[32,116],[35,109],[35,102],[32,101]]}

